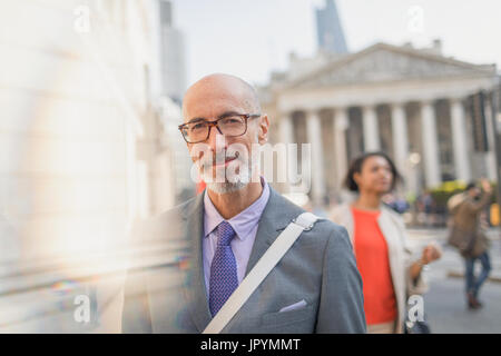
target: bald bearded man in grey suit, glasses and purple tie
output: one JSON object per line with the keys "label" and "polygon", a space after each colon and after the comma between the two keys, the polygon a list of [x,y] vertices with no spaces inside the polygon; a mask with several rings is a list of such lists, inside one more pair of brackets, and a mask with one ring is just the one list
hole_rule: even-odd
{"label": "bald bearded man in grey suit, glasses and purple tie", "polygon": [[[183,116],[180,134],[207,188],[135,229],[136,246],[180,247],[177,255],[173,247],[160,251],[153,266],[139,255],[134,260],[125,333],[202,333],[304,212],[259,175],[256,151],[268,139],[269,119],[252,86],[207,76],[187,90]],[[326,219],[304,230],[222,333],[365,333],[346,230]]]}

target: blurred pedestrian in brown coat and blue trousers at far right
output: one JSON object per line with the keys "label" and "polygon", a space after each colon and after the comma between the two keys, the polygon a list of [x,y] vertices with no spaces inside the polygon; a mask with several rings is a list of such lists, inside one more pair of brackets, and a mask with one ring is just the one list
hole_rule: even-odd
{"label": "blurred pedestrian in brown coat and blue trousers at far right", "polygon": [[[482,229],[480,216],[491,201],[492,187],[487,179],[481,180],[481,186],[483,194],[474,182],[469,184],[463,199],[453,206],[449,236],[449,244],[458,248],[464,258],[466,304],[470,309],[482,307],[482,303],[479,301],[479,290],[491,271],[489,239]],[[477,260],[482,266],[478,277],[474,274]]]}

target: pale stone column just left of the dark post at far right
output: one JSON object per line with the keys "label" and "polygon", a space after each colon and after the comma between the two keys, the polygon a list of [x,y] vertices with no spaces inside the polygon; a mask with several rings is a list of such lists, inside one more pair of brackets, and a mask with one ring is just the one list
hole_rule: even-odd
{"label": "pale stone column just left of the dark post at far right", "polygon": [[461,99],[451,99],[452,146],[456,179],[471,180],[470,158],[468,154],[466,121]]}

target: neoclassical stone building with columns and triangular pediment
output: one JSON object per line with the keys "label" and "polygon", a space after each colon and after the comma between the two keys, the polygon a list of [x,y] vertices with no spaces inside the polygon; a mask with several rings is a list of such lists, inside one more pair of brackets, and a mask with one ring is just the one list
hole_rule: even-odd
{"label": "neoclassical stone building with columns and triangular pediment", "polygon": [[[273,142],[312,145],[310,196],[323,204],[338,199],[351,160],[374,150],[395,161],[403,194],[452,179],[494,180],[489,93],[499,86],[495,65],[444,57],[435,40],[425,49],[376,43],[337,57],[292,57],[291,69],[259,93]],[[483,122],[471,110],[480,91]]]}

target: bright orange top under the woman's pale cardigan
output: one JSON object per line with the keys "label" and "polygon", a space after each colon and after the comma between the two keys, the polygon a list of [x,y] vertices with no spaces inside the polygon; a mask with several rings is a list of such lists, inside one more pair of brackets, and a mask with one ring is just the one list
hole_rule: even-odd
{"label": "bright orange top under the woman's pale cardigan", "polygon": [[352,207],[354,218],[354,250],[362,276],[364,309],[367,325],[396,319],[396,298],[386,240],[377,225],[381,211]]}

